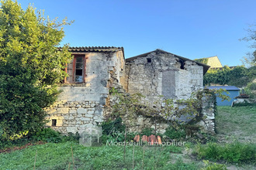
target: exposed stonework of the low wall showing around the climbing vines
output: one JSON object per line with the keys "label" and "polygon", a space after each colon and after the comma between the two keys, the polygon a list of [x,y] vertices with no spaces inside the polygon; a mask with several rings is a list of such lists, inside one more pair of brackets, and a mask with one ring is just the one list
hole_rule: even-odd
{"label": "exposed stonework of the low wall showing around the climbing vines", "polygon": [[[201,130],[209,133],[215,134],[215,112],[216,112],[216,96],[213,92],[209,90],[201,90],[199,91],[199,100],[201,100],[201,110],[199,110],[199,117],[193,120],[193,124],[198,124],[201,126]],[[117,102],[118,97],[110,96],[111,107],[113,104]],[[152,101],[152,104],[154,101]],[[178,105],[175,103],[176,107]],[[180,108],[184,108],[184,106],[179,106]],[[104,115],[110,114],[111,109],[108,110],[108,113],[105,112]],[[164,117],[150,117],[143,114],[137,114],[136,117],[133,118],[127,116],[126,114],[121,114],[120,117],[123,119],[123,123],[129,125],[129,131],[140,132],[145,128],[153,128],[157,130],[157,133],[164,134],[166,128],[168,128],[171,121],[165,120]],[[186,117],[195,117],[190,115],[185,115],[180,117],[180,121],[189,122]],[[201,117],[201,118],[200,118]],[[177,118],[177,117],[176,117]],[[156,122],[156,123],[155,123]]]}

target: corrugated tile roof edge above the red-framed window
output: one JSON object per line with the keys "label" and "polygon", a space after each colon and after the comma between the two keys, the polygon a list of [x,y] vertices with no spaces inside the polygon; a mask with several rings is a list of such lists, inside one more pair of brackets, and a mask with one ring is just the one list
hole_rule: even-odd
{"label": "corrugated tile roof edge above the red-framed window", "polygon": [[[62,47],[58,48],[59,50]],[[69,47],[68,51],[70,52],[116,52],[116,51],[123,51],[123,47],[115,47],[115,46],[74,46]]]}

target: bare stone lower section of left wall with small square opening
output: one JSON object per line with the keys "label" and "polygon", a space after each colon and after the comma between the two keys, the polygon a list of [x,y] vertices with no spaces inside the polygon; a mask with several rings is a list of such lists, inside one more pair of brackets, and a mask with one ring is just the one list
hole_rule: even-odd
{"label": "bare stone lower section of left wall with small square opening", "polygon": [[[95,101],[54,104],[46,111],[49,114],[47,119],[50,120],[47,126],[64,134],[81,133],[103,121],[102,107]],[[52,120],[56,120],[56,124]]]}

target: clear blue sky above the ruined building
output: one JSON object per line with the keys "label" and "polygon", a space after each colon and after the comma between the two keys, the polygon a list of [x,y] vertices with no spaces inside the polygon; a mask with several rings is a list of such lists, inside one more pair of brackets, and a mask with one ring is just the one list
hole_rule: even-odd
{"label": "clear blue sky above the ruined building", "polygon": [[123,46],[125,57],[163,49],[189,59],[218,56],[241,65],[252,49],[239,39],[256,23],[255,0],[17,0],[65,26],[61,46]]}

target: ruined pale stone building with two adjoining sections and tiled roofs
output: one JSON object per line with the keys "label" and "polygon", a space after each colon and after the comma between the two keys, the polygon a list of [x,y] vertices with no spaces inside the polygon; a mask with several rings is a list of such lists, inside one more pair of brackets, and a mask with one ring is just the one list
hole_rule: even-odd
{"label": "ruined pale stone building with two adjoining sections and tiled roofs", "polygon": [[156,49],[124,58],[123,47],[73,47],[69,76],[60,84],[57,102],[47,108],[48,126],[57,131],[81,132],[104,121],[109,89],[143,93],[154,98],[186,99],[202,88],[209,66]]}

